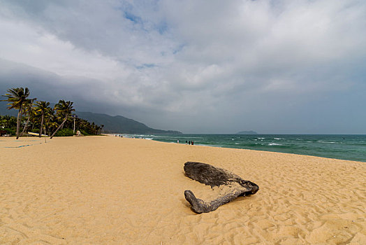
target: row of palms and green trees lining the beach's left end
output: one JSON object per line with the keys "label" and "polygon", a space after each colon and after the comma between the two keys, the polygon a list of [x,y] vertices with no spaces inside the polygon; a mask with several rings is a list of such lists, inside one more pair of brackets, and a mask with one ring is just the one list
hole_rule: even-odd
{"label": "row of palms and green trees lining the beach's left end", "polygon": [[0,115],[0,131],[16,134],[17,139],[27,130],[39,133],[38,137],[48,134],[52,139],[54,136],[71,136],[75,130],[90,135],[100,134],[103,129],[103,125],[98,126],[73,116],[73,102],[60,99],[52,108],[50,102],[29,99],[28,87],[15,87],[6,91],[2,95],[6,99],[1,101],[8,102],[8,109],[16,109],[18,113],[17,117]]}

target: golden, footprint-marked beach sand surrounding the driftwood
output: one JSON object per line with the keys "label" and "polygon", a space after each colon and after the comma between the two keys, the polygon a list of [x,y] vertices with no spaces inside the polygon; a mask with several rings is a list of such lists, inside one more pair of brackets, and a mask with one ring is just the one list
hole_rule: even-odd
{"label": "golden, footprint-marked beach sand surrounding the driftwood", "polygon": [[[187,161],[260,189],[195,214],[184,190],[215,190],[184,176]],[[119,137],[0,138],[0,244],[366,244],[365,210],[363,162]]]}

